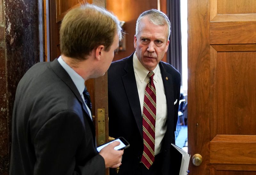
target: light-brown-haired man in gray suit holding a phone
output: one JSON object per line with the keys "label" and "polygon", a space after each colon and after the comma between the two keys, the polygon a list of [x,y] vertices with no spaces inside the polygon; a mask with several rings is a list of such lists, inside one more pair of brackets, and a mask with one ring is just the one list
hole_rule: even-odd
{"label": "light-brown-haired man in gray suit holding a phone", "polygon": [[121,38],[118,19],[92,4],[70,10],[60,28],[61,55],[20,80],[12,116],[11,175],[102,175],[121,165],[114,142],[96,150],[84,82],[107,72]]}

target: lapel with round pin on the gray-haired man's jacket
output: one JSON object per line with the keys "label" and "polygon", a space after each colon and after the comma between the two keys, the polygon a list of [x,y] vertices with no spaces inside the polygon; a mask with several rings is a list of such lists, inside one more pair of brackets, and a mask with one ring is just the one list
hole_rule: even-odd
{"label": "lapel with round pin on the gray-haired man's jacket", "polygon": [[164,84],[164,91],[166,96],[166,103],[167,103],[167,129],[164,136],[164,142],[162,145],[162,150],[168,149],[171,146],[172,140],[172,133],[173,133],[173,119],[174,119],[174,97],[173,97],[173,83],[172,83],[172,75],[169,74],[162,62],[159,63],[159,67],[162,74],[163,84]]}

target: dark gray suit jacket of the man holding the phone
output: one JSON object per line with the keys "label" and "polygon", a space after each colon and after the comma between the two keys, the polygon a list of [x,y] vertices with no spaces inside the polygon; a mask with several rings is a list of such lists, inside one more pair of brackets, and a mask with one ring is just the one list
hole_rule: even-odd
{"label": "dark gray suit jacket of the man holding the phone", "polygon": [[10,174],[105,174],[82,98],[58,60],[20,80],[12,116]]}

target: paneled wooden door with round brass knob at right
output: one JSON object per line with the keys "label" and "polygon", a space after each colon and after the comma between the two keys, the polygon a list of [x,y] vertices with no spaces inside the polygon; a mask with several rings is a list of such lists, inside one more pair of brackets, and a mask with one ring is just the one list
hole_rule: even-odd
{"label": "paneled wooden door with round brass knob at right", "polygon": [[191,175],[256,174],[256,1],[188,1]]}

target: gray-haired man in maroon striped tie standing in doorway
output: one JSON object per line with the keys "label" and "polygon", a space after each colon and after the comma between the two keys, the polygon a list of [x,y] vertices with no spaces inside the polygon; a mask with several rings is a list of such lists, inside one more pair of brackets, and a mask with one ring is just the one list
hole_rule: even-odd
{"label": "gray-haired man in maroon striped tie standing in doorway", "polygon": [[171,143],[175,143],[181,77],[161,61],[169,36],[170,21],[163,12],[143,12],[136,23],[135,52],[108,70],[109,135],[123,136],[130,143],[120,175],[176,175]]}

